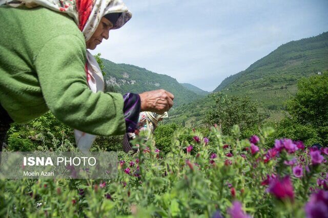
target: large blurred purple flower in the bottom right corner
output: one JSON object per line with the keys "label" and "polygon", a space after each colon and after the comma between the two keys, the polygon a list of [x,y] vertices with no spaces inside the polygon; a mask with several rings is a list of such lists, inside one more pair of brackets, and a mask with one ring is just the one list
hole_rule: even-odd
{"label": "large blurred purple flower in the bottom right corner", "polygon": [[313,193],[310,201],[306,203],[305,207],[306,217],[328,217],[328,191],[319,190]]}

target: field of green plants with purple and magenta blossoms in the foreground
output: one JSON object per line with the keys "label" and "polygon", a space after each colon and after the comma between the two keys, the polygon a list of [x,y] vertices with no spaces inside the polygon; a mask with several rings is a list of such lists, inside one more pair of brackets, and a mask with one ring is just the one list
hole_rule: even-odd
{"label": "field of green plants with purple and magenta blossoms in the foreground", "polygon": [[[258,136],[208,137],[192,141],[178,130],[171,151],[150,138],[134,156],[119,153],[114,180],[0,181],[1,217],[328,217],[328,148],[304,148]],[[265,150],[264,148],[270,148]]]}

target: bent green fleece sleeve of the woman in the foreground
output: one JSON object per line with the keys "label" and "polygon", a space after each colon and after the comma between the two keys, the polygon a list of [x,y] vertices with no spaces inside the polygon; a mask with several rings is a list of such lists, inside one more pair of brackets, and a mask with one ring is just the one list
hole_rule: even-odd
{"label": "bent green fleece sleeve of the woman in the foreground", "polygon": [[81,37],[61,35],[48,41],[34,59],[44,99],[64,124],[94,135],[126,130],[120,93],[92,92],[87,85],[86,45]]}

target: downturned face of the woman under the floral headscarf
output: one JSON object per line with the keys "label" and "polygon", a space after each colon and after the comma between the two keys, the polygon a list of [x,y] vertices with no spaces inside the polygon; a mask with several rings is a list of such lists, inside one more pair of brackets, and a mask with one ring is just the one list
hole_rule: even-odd
{"label": "downturned face of the woman under the floral headscarf", "polygon": [[105,17],[102,17],[100,19],[96,31],[91,36],[91,38],[86,42],[87,49],[94,50],[97,47],[97,45],[103,41],[103,39],[108,39],[109,31],[112,28],[113,28],[113,24],[111,23],[111,21],[109,21]]}

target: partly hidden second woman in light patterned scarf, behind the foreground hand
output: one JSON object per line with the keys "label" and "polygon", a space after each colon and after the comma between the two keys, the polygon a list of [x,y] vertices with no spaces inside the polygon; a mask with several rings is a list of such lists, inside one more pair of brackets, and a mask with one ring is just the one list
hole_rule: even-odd
{"label": "partly hidden second woman in light patterned scarf, behind the foreground hand", "polygon": [[[156,127],[158,126],[158,122],[160,122],[163,118],[167,118],[168,113],[165,112],[163,114],[158,114],[155,112],[141,112],[139,114],[137,131],[147,131],[149,134],[154,134]],[[135,133],[126,133],[123,137],[123,150],[128,153],[132,150],[132,144],[130,141],[134,139]],[[147,141],[148,137],[145,138]],[[135,151],[136,152],[136,151]]]}

